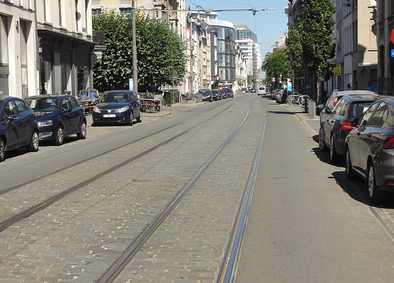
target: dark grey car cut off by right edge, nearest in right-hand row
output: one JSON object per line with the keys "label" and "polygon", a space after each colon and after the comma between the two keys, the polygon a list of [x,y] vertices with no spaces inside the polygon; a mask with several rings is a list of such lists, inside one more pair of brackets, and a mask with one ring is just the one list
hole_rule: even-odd
{"label": "dark grey car cut off by right edge, nearest in right-hand row", "polygon": [[387,192],[394,192],[394,98],[379,99],[352,122],[355,129],[346,138],[346,177],[358,174],[366,179],[369,201],[382,203]]}

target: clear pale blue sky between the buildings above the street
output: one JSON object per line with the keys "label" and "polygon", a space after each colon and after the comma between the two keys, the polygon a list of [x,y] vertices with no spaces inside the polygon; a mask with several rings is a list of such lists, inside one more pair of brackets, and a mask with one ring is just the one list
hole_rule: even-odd
{"label": "clear pale blue sky between the buildings above the street", "polygon": [[267,52],[272,52],[276,36],[287,32],[285,7],[288,3],[288,0],[186,0],[186,6],[190,6],[191,10],[198,10],[197,5],[206,10],[274,8],[275,10],[257,11],[255,16],[251,11],[218,12],[219,20],[229,21],[234,25],[246,25],[257,35],[257,41],[261,43],[262,61]]}

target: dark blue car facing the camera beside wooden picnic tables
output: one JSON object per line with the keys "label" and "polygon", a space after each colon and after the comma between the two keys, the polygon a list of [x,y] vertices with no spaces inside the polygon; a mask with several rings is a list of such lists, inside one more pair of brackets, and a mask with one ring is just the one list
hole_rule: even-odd
{"label": "dark blue car facing the camera beside wooden picnic tables", "polygon": [[136,119],[142,122],[142,107],[136,93],[131,90],[111,90],[104,92],[93,108],[93,124],[127,123],[132,126]]}

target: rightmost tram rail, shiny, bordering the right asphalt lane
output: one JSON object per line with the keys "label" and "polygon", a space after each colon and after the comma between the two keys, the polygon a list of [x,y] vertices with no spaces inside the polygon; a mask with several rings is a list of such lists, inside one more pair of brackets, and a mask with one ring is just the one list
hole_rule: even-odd
{"label": "rightmost tram rail, shiny, bordering the right asphalt lane", "polygon": [[242,192],[242,199],[239,203],[238,210],[236,212],[236,217],[232,229],[230,231],[229,242],[225,249],[225,256],[220,265],[216,283],[229,283],[229,282],[233,282],[235,279],[236,266],[239,259],[245,228],[249,216],[250,205],[252,202],[253,188],[256,182],[256,176],[259,169],[259,163],[260,163],[261,153],[263,150],[263,142],[266,132],[265,109],[261,101],[260,101],[260,105],[262,106],[264,113],[263,130],[253,158],[251,168],[249,169],[247,181],[245,183],[245,187]]}

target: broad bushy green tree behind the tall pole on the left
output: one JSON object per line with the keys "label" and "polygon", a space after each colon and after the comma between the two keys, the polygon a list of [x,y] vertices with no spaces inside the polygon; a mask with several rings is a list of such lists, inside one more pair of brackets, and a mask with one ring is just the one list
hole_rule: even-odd
{"label": "broad bushy green tree behind the tall pole on the left", "polygon": [[[155,90],[169,84],[170,75],[181,80],[186,72],[186,43],[157,19],[136,15],[138,90]],[[104,31],[105,50],[97,60],[94,82],[107,89],[128,88],[132,77],[131,15],[105,11],[93,17],[93,29]]]}

